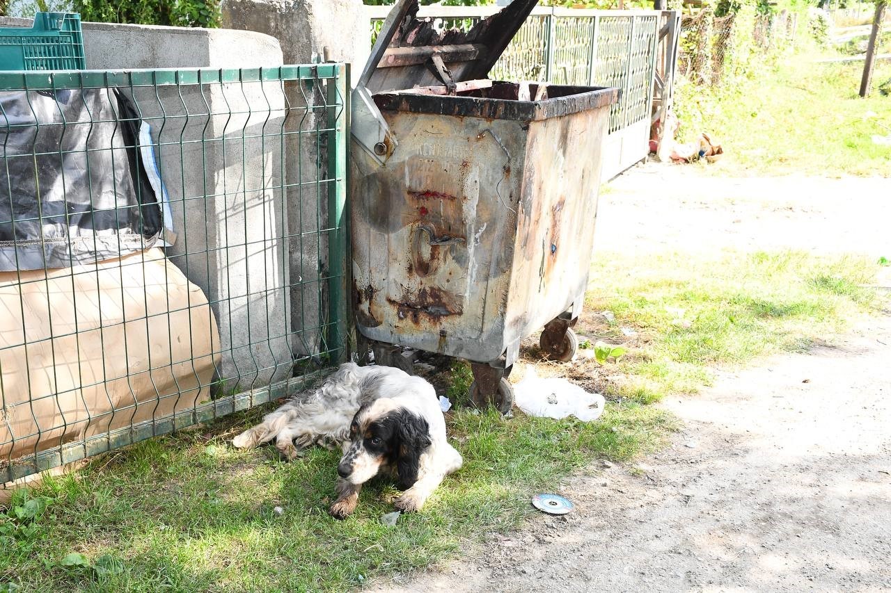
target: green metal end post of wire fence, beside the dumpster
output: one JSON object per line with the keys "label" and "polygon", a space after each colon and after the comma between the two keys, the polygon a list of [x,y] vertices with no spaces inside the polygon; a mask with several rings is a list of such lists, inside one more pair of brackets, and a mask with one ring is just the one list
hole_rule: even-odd
{"label": "green metal end post of wire fence, beside the dumpster", "polygon": [[331,362],[346,360],[347,336],[347,129],[349,67],[328,81],[328,309]]}

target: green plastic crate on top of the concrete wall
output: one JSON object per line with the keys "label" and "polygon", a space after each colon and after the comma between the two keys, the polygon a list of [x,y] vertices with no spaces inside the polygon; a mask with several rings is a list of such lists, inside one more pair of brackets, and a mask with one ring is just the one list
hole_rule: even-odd
{"label": "green plastic crate on top of the concrete wall", "polygon": [[82,70],[84,38],[76,12],[37,12],[32,28],[0,27],[0,70]]}

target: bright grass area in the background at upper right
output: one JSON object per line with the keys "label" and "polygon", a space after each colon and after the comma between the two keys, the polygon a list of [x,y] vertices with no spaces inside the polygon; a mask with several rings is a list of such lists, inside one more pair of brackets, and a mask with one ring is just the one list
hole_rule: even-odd
{"label": "bright grass area in the background at upper right", "polygon": [[[717,175],[891,176],[891,98],[879,93],[891,63],[877,63],[874,91],[857,96],[862,64],[818,64],[799,53],[740,85],[677,89],[682,140],[713,134],[724,155]],[[705,167],[705,165],[703,165]]]}

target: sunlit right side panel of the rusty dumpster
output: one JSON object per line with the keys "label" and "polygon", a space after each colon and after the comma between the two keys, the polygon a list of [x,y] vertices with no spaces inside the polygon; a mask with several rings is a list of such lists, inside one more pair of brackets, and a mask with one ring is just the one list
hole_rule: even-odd
{"label": "sunlit right side panel of the rusty dumpster", "polygon": [[608,119],[609,106],[530,125],[505,321],[508,344],[574,304],[581,308]]}

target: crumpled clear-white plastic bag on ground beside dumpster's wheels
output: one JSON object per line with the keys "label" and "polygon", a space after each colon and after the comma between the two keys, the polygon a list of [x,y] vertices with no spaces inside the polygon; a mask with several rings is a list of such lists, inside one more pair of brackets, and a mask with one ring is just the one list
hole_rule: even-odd
{"label": "crumpled clear-white plastic bag on ground beside dumpster's wheels", "polygon": [[514,402],[529,416],[566,418],[575,416],[584,422],[601,417],[606,399],[589,394],[565,378],[540,378],[535,369],[514,386]]}

